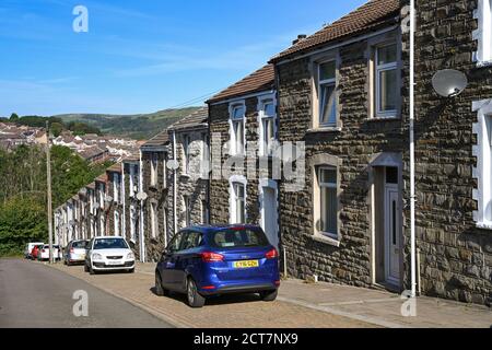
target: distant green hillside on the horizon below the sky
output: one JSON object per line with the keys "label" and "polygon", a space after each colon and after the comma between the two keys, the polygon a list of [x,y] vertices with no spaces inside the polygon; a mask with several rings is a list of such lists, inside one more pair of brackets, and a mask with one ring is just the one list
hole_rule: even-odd
{"label": "distant green hillside on the horizon below the sky", "polygon": [[173,122],[194,113],[199,107],[164,109],[151,114],[63,114],[54,117],[63,122],[78,121],[97,127],[104,133],[126,136],[133,139],[149,139]]}

